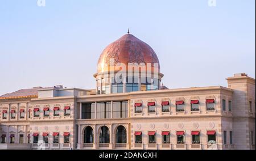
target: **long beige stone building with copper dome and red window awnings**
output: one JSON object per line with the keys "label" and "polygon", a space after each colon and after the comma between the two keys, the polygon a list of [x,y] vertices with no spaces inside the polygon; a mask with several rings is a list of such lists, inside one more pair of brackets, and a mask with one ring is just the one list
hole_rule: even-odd
{"label": "long beige stone building with copper dome and red window awnings", "polygon": [[128,33],[102,52],[94,90],[0,96],[0,149],[255,149],[255,79],[168,89],[162,77],[154,50]]}

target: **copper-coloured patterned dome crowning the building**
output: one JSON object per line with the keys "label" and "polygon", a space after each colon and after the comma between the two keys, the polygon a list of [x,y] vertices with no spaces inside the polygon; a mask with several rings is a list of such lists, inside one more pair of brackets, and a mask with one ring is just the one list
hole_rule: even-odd
{"label": "copper-coloured patterned dome crowning the building", "polygon": [[152,63],[152,66],[158,63],[160,72],[159,60],[154,50],[131,34],[122,36],[103,50],[98,60],[98,73],[109,71],[111,58],[114,59],[115,65],[124,63],[126,67],[128,63]]}

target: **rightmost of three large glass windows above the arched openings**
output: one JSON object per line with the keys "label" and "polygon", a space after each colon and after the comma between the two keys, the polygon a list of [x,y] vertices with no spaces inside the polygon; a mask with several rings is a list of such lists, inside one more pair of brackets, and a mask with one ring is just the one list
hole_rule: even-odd
{"label": "rightmost of three large glass windows above the arched openings", "polygon": [[113,118],[127,118],[128,116],[128,102],[116,101],[113,102]]}

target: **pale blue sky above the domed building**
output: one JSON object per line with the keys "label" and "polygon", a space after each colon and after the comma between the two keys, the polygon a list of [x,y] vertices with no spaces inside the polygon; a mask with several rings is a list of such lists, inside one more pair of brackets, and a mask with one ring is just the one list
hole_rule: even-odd
{"label": "pale blue sky above the domed building", "polygon": [[0,95],[96,88],[102,50],[127,28],[155,50],[168,88],[255,78],[255,0],[208,1],[0,0]]}

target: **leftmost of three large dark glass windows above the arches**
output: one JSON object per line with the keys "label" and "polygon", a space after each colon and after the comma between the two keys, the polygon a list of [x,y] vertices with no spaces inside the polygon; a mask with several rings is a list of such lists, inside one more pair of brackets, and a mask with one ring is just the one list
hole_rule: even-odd
{"label": "leftmost of three large dark glass windows above the arches", "polygon": [[82,119],[94,118],[95,103],[82,103]]}

